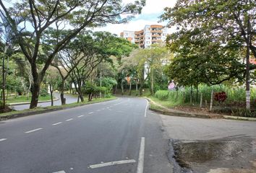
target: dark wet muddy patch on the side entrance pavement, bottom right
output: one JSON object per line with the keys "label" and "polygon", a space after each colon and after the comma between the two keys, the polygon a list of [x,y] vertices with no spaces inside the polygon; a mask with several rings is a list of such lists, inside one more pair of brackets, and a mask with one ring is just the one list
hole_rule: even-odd
{"label": "dark wet muddy patch on the side entrance pavement, bottom right", "polygon": [[198,173],[256,173],[256,141],[247,137],[173,141],[174,159]]}

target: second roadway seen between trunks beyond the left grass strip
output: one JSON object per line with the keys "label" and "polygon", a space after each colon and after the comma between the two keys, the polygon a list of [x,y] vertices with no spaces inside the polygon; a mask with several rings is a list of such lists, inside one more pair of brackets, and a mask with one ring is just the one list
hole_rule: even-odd
{"label": "second roadway seen between trunks beyond the left grass strip", "polygon": [[[59,98],[60,97],[59,93],[54,93],[54,97]],[[67,104],[77,102],[77,97],[73,97],[68,94],[64,94],[64,97],[66,98]],[[58,106],[58,105],[61,105],[61,99],[54,101],[54,106]],[[51,102],[38,103],[38,107],[48,107],[48,106],[51,106]],[[14,110],[26,110],[29,108],[30,108],[30,104],[12,106],[12,109]]]}

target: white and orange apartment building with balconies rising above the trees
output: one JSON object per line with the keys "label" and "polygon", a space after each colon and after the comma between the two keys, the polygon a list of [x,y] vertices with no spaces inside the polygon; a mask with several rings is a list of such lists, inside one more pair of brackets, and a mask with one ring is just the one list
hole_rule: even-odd
{"label": "white and orange apartment building with balconies rising above the trees", "polygon": [[140,48],[148,48],[152,44],[166,40],[167,28],[162,25],[145,25],[144,29],[140,31],[124,30],[120,36],[139,45]]}

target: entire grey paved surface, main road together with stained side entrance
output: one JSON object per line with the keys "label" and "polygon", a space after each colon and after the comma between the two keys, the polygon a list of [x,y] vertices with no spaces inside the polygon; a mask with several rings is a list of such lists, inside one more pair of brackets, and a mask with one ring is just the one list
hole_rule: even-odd
{"label": "entire grey paved surface, main road together with stained side entrance", "polygon": [[0,122],[0,172],[256,173],[255,132],[256,122],[158,115],[120,97]]}

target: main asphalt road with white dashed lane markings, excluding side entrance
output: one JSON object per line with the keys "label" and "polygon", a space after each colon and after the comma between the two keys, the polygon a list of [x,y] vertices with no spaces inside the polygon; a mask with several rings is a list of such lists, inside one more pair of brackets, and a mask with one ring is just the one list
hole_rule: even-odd
{"label": "main asphalt road with white dashed lane markings, excluding side entrance", "polygon": [[168,138],[142,98],[0,122],[1,173],[168,173]]}

